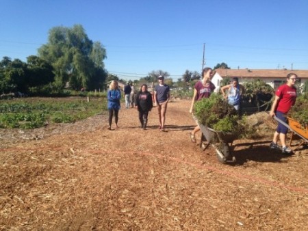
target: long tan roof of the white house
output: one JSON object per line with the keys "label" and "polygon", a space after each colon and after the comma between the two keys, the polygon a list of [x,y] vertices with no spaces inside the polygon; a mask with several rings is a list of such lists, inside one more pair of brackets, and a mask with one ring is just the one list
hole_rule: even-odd
{"label": "long tan roof of the white house", "polygon": [[223,77],[239,78],[285,78],[289,73],[297,74],[300,79],[308,79],[308,70],[273,70],[273,69],[216,69]]}

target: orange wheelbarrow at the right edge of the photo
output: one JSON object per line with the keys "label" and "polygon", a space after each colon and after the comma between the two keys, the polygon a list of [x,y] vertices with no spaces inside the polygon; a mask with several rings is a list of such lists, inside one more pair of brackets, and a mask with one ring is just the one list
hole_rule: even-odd
{"label": "orange wheelbarrow at the right edge of the photo", "polygon": [[294,148],[293,151],[296,150],[299,146],[302,146],[302,145],[307,146],[307,144],[308,144],[308,127],[303,128],[303,126],[301,126],[299,122],[297,122],[296,120],[294,120],[290,117],[287,118],[289,124],[286,124],[285,122],[283,122],[282,120],[280,120],[276,116],[274,116],[274,119],[277,120],[279,123],[283,124],[284,126],[286,126],[291,131],[291,138],[290,138],[289,146],[291,146],[294,134],[298,135],[298,137],[303,139],[303,141],[296,148]]}

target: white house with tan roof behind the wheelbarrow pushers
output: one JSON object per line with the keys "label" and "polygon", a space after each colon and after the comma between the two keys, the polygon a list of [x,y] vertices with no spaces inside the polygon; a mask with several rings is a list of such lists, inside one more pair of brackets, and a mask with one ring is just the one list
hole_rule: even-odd
{"label": "white house with tan roof behind the wheelbarrow pushers", "polygon": [[211,82],[216,86],[216,92],[219,91],[222,79],[229,77],[238,77],[239,82],[252,81],[253,79],[261,79],[276,89],[287,77],[287,74],[295,73],[298,76],[298,83],[301,86],[308,81],[308,70],[272,70],[272,69],[216,69]]}

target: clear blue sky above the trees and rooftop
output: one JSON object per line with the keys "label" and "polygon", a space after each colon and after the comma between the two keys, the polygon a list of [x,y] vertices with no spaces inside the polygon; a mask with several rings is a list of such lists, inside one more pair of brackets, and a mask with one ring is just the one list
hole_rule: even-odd
{"label": "clear blue sky above the trees and rooftop", "polygon": [[307,0],[0,0],[0,58],[26,61],[52,27],[82,25],[123,79],[231,68],[308,69]]}

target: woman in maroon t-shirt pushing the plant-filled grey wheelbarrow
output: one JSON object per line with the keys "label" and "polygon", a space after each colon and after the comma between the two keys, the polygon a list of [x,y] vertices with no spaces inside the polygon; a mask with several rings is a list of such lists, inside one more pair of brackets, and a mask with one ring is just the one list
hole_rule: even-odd
{"label": "woman in maroon t-shirt pushing the plant-filled grey wheelbarrow", "polygon": [[[192,96],[192,105],[190,106],[190,113],[194,108],[194,103],[202,98],[209,98],[212,92],[215,90],[214,83],[211,82],[214,72],[211,68],[204,68],[202,72],[201,81],[196,82],[194,85],[194,96]],[[193,143],[196,143],[196,132],[200,131],[200,127],[197,125],[194,127],[194,130],[190,133],[190,140]]]}

